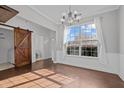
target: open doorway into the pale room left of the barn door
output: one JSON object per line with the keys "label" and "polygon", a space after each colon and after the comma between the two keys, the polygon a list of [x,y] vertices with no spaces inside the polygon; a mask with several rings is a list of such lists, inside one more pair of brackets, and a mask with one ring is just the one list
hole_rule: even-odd
{"label": "open doorway into the pale room left of the barn door", "polygon": [[14,32],[0,27],[0,71],[14,67]]}

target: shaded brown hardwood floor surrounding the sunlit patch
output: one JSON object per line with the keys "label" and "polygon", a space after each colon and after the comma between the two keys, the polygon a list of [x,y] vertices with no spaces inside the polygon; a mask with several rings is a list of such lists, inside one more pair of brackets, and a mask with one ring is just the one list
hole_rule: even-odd
{"label": "shaded brown hardwood floor surrounding the sunlit patch", "polygon": [[[63,84],[65,88],[124,88],[124,82],[115,74],[78,68],[64,64],[54,64],[51,60],[35,62],[32,65],[27,65],[20,68],[12,68],[0,71],[0,80],[11,78],[13,76],[22,75],[28,72],[34,73],[36,70],[47,69],[49,71],[67,76],[74,81],[69,84]],[[63,77],[62,76],[62,77]],[[45,79],[53,79],[53,82],[58,82],[53,77],[44,77]],[[59,78],[59,77],[58,77]],[[48,80],[49,80],[48,79]],[[60,78],[59,78],[60,79]],[[47,81],[46,81],[47,82]],[[61,83],[61,81],[60,81]],[[57,83],[58,84],[58,83]],[[37,85],[35,85],[37,86]]]}

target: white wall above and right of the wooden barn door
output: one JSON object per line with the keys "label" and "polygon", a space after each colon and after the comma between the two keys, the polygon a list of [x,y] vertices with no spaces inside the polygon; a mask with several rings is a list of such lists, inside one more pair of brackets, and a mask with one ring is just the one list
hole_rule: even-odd
{"label": "white wall above and right of the wooden barn door", "polygon": [[[39,50],[43,54],[41,56],[42,59],[51,58],[51,39],[52,35],[55,35],[55,31],[52,31],[48,28],[42,27],[40,25],[37,25],[35,23],[32,23],[30,21],[27,21],[20,17],[14,17],[11,20],[9,20],[6,24],[29,29],[33,31],[32,33],[32,62],[36,61],[36,50]],[[38,39],[39,37],[42,39]],[[37,42],[37,43],[36,43]],[[39,48],[41,46],[41,48]]]}

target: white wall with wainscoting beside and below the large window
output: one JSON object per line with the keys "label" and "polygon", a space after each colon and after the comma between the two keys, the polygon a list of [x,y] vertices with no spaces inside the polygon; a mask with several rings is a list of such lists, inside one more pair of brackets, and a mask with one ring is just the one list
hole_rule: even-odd
{"label": "white wall with wainscoting beside and below the large window", "polygon": [[84,67],[94,70],[100,70],[110,73],[119,72],[119,34],[118,34],[118,11],[107,12],[104,14],[96,15],[102,19],[103,38],[106,47],[106,60],[86,57],[70,57],[63,56],[63,27],[58,28],[56,36],[57,40],[57,63],[69,64],[78,67]]}

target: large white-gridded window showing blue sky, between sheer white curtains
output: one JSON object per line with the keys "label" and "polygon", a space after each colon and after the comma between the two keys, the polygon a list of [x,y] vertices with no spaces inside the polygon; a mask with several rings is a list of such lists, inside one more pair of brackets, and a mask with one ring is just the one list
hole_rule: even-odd
{"label": "large white-gridded window showing blue sky, between sheer white curtains", "polygon": [[68,27],[65,35],[67,55],[98,57],[97,31],[94,23]]}

